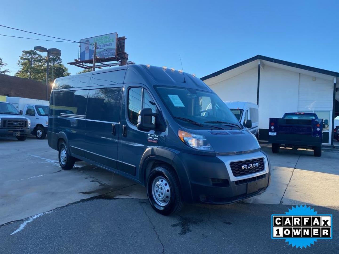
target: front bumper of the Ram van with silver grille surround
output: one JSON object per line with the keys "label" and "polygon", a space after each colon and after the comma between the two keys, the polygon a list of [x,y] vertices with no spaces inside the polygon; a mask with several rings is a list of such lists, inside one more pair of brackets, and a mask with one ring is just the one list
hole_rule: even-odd
{"label": "front bumper of the Ram van with silver grille surround", "polygon": [[[194,203],[231,204],[258,195],[270,185],[270,164],[262,152],[240,156],[201,156],[188,153],[180,153],[178,156],[185,162]],[[228,164],[230,161],[250,160],[258,156],[264,158],[264,170],[240,177],[233,176]],[[255,186],[255,191],[248,188],[249,184]],[[187,193],[183,193],[185,194]]]}

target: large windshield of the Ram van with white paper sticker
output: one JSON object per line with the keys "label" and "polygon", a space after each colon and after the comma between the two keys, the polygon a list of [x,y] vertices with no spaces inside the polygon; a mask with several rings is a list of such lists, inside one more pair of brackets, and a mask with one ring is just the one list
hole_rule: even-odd
{"label": "large windshield of the Ram van with white paper sticker", "polygon": [[[242,129],[225,103],[212,92],[190,88],[157,87],[161,100],[175,120],[190,127],[222,126]],[[192,126],[191,126],[192,125]]]}

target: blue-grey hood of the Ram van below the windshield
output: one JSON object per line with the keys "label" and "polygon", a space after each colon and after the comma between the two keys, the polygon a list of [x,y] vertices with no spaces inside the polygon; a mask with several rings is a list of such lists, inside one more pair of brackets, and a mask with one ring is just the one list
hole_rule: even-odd
{"label": "blue-grey hood of the Ram van below the windshield", "polygon": [[219,155],[239,154],[260,149],[256,137],[243,130],[192,130],[192,133],[204,135]]}

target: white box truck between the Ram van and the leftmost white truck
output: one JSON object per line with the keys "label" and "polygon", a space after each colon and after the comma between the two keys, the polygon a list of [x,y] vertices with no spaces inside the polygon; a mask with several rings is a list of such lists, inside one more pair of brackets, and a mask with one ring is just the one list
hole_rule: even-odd
{"label": "white box truck between the Ram van and the leftmost white truck", "polygon": [[31,120],[31,134],[37,139],[44,139],[48,129],[49,101],[27,99],[20,97],[7,97],[24,117]]}

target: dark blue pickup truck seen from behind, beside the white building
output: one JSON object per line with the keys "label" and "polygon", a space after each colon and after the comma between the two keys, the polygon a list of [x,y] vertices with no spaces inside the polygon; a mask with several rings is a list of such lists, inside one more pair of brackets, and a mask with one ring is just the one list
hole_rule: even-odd
{"label": "dark blue pickup truck seen from behind, beside the white building", "polygon": [[272,152],[278,153],[280,146],[293,149],[313,149],[314,156],[321,156],[322,119],[315,113],[285,113],[282,118],[270,118],[268,142]]}

